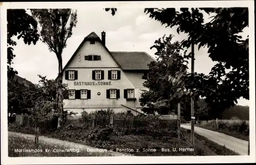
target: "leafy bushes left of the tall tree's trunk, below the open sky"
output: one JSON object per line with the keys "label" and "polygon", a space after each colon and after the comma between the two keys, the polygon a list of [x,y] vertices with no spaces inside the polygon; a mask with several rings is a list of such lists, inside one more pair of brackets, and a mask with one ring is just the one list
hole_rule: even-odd
{"label": "leafy bushes left of the tall tree's trunk, below the open sky", "polygon": [[[8,80],[8,113],[25,114],[32,118],[34,124],[50,123],[60,114],[56,93],[59,85],[54,79],[40,77],[39,84],[25,87],[13,79]],[[62,92],[67,91],[67,85],[61,85]]]}

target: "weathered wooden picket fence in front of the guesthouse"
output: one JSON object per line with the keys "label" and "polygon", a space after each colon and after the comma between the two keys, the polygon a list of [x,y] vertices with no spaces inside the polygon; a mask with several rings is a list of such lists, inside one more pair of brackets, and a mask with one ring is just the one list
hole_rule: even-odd
{"label": "weathered wooden picket fence in front of the guesthouse", "polygon": [[66,124],[79,127],[97,127],[111,125],[117,128],[147,128],[156,130],[176,130],[177,120],[161,120],[158,116],[131,116],[118,114],[93,114],[86,117],[73,116]]}

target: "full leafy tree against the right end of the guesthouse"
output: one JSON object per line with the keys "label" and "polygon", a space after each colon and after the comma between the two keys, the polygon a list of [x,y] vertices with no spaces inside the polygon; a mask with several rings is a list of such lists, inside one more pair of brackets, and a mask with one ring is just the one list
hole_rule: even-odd
{"label": "full leafy tree against the right end of the guesthouse", "polygon": [[[182,54],[180,42],[172,43],[172,38],[173,35],[164,35],[151,47],[157,49],[157,61],[151,62],[147,77],[143,76],[143,79],[146,79],[143,86],[148,88],[148,91],[143,91],[139,101],[141,106],[147,105],[147,108],[142,109],[145,113],[150,113],[151,108],[160,115],[177,112],[178,97],[174,95],[178,86],[168,81],[168,75],[175,75],[177,71],[186,74],[187,61],[184,58],[186,51]],[[185,115],[189,104],[186,98],[180,101],[183,103],[181,108]]]}

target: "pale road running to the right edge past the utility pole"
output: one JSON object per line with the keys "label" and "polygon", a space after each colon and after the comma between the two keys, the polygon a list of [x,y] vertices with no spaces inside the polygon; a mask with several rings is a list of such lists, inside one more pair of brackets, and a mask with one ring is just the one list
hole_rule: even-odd
{"label": "pale road running to the right edge past the utility pole", "polygon": [[[181,127],[191,129],[191,125],[182,124]],[[247,141],[237,139],[236,137],[232,137],[224,133],[211,131],[200,127],[195,127],[195,132],[215,143],[218,143],[219,145],[225,145],[226,148],[238,152],[240,153],[240,155],[248,155]]]}

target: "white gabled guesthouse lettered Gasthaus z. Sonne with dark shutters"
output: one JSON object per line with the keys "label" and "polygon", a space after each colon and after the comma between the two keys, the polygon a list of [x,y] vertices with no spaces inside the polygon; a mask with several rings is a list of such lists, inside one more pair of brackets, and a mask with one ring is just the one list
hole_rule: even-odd
{"label": "white gabled guesthouse lettered Gasthaus z. Sonne with dark shutters", "polygon": [[113,109],[115,113],[143,114],[139,98],[142,76],[154,59],[146,52],[110,51],[92,32],[83,39],[62,70],[62,83],[68,84],[69,98],[64,111],[81,114]]}

